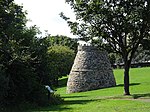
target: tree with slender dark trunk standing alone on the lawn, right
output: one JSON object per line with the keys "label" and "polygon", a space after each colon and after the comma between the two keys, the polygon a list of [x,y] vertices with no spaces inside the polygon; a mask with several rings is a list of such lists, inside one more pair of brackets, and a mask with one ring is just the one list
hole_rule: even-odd
{"label": "tree with slender dark trunk standing alone on the lawn, right", "polygon": [[[149,0],[66,0],[77,21],[61,13],[72,33],[85,40],[105,41],[124,61],[124,94],[130,95],[129,69],[133,56],[150,34]],[[103,46],[102,46],[103,47]]]}

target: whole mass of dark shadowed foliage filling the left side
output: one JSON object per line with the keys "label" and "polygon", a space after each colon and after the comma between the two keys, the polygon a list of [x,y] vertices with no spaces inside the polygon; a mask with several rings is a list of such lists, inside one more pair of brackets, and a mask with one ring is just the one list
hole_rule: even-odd
{"label": "whole mass of dark shadowed foliage filling the left side", "polygon": [[[26,13],[13,0],[0,0],[0,107],[50,102],[47,38],[37,38],[36,26],[27,28]],[[53,97],[55,99],[55,96]],[[56,99],[59,98],[56,96]]]}

